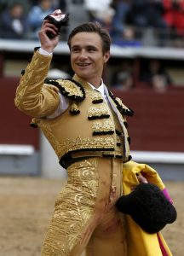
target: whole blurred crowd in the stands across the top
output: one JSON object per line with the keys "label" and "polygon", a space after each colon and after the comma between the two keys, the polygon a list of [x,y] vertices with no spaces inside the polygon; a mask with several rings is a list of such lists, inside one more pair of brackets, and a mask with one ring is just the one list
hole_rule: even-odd
{"label": "whole blurred crowd in the stands across the top", "polygon": [[64,40],[74,26],[89,20],[99,21],[119,45],[149,40],[177,46],[184,35],[184,0],[0,0],[0,38],[37,39],[43,18],[55,9],[72,16]]}

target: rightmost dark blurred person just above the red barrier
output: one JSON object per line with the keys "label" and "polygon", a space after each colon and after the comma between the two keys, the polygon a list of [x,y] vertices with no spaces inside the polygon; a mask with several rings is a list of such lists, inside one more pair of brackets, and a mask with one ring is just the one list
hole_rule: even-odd
{"label": "rightmost dark blurred person just above the red barrier", "polygon": [[152,59],[147,67],[142,68],[141,81],[147,82],[153,90],[164,92],[172,83],[169,74],[165,71],[161,61]]}

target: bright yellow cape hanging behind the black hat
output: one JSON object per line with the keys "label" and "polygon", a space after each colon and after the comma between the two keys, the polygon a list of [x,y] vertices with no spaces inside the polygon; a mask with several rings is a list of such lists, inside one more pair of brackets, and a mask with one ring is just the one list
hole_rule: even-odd
{"label": "bright yellow cape hanging behind the black hat", "polygon": [[[162,189],[164,195],[171,201],[167,190],[165,189],[162,179],[158,176],[152,167],[146,164],[138,164],[129,161],[124,164],[123,171],[123,189],[124,195],[131,192],[131,188],[139,183],[136,173],[147,178],[147,181],[154,183],[159,189]],[[156,234],[148,234],[129,216],[125,215],[127,225],[127,255],[129,256],[172,256],[170,248],[164,241],[164,237],[160,232]]]}

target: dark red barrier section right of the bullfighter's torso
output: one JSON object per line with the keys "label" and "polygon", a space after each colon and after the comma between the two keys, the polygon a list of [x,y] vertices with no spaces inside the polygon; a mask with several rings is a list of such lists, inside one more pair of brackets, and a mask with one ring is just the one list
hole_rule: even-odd
{"label": "dark red barrier section right of the bullfighter's torso", "polygon": [[114,93],[135,110],[128,118],[132,150],[184,152],[184,90]]}

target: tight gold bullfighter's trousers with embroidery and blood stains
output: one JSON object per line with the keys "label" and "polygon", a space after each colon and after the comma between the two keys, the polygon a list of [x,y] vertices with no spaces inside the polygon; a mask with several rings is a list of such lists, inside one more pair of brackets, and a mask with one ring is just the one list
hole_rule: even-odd
{"label": "tight gold bullfighter's trousers with embroidery and blood stains", "polygon": [[68,167],[42,256],[80,256],[84,249],[86,256],[126,256],[124,217],[114,207],[122,168],[122,160],[100,157]]}

